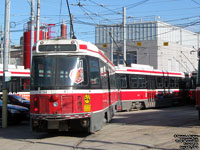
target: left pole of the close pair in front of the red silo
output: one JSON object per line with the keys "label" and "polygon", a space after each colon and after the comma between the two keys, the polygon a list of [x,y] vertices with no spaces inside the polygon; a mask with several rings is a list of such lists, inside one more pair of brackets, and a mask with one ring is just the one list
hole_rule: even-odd
{"label": "left pole of the close pair in front of the red silo", "polygon": [[31,0],[31,48],[30,48],[30,69],[32,66],[32,48],[34,45],[34,35],[35,35],[35,0]]}

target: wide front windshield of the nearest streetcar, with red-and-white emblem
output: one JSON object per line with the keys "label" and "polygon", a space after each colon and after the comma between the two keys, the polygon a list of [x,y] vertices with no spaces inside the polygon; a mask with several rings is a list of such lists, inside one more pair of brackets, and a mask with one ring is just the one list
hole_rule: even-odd
{"label": "wide front windshield of the nearest streetcar, with red-and-white emblem", "polygon": [[81,56],[35,56],[31,89],[83,87],[88,83],[86,59]]}

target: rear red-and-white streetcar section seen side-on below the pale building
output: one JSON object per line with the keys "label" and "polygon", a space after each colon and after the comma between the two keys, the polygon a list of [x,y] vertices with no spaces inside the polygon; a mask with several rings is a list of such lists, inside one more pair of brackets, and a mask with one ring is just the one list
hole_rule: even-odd
{"label": "rear red-and-white streetcar section seen side-on below the pale building", "polygon": [[165,107],[184,103],[182,72],[155,70],[149,65],[117,66],[121,110]]}

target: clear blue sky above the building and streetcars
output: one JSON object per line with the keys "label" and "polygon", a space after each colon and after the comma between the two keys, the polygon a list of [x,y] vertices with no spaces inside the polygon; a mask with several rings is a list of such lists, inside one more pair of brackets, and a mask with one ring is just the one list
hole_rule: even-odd
{"label": "clear blue sky above the building and streetcars", "polygon": [[[37,0],[35,0],[37,2]],[[95,25],[122,22],[122,7],[127,8],[127,22],[133,20],[161,21],[200,32],[200,0],[69,0],[74,15],[74,30],[78,39],[95,41]],[[35,4],[36,6],[36,4]],[[0,0],[0,26],[4,26],[5,0]],[[30,0],[11,0],[11,44],[19,44],[26,22],[30,18]],[[69,16],[66,0],[41,0],[41,23],[56,24],[52,28],[59,36],[59,25]],[[69,34],[68,34],[69,35]]]}

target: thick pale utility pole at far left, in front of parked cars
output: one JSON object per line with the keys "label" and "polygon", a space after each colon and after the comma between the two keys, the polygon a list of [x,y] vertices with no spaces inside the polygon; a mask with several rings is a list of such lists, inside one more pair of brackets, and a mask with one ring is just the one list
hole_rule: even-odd
{"label": "thick pale utility pole at far left, in front of parked cars", "polygon": [[3,109],[2,109],[2,127],[7,127],[7,81],[8,72],[8,51],[10,45],[10,1],[5,0],[5,18],[4,18],[4,51],[3,51]]}

